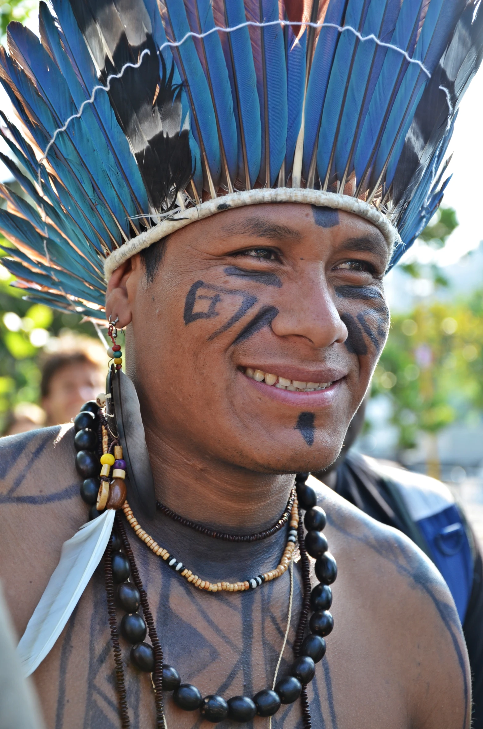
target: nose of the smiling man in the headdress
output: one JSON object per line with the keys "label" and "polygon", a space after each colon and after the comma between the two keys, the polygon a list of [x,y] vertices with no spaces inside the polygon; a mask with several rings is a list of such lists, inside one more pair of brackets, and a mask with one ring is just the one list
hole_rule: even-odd
{"label": "nose of the smiling man in the headdress", "polygon": [[284,284],[284,289],[286,297],[282,295],[279,313],[271,324],[274,334],[304,337],[317,348],[345,342],[347,327],[333,303],[324,271],[312,270],[310,275]]}

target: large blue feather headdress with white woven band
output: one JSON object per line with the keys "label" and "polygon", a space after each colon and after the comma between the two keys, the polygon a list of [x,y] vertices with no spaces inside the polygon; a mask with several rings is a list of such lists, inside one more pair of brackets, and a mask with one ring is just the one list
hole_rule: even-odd
{"label": "large blue feather headdress with white woven band", "polygon": [[[4,265],[28,298],[101,318],[104,273],[219,210],[299,200],[395,243],[446,182],[483,55],[479,0],[52,0],[0,49],[18,116]],[[223,202],[220,196],[224,196]],[[218,200],[218,202],[217,202]],[[191,209],[190,209],[191,208]]]}

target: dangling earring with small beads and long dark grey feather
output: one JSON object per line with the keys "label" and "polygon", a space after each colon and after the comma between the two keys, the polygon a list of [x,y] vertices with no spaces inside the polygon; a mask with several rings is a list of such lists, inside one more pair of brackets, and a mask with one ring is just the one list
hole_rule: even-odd
{"label": "dangling earring with small beads and long dark grey feather", "polygon": [[107,334],[112,340],[112,347],[107,350],[107,354],[114,362],[107,373],[106,417],[112,437],[119,438],[123,447],[128,500],[134,507],[138,506],[144,516],[152,518],[156,511],[156,499],[150,456],[136,388],[133,381],[123,373],[123,353],[116,343],[117,321],[117,317],[111,321],[109,316]]}

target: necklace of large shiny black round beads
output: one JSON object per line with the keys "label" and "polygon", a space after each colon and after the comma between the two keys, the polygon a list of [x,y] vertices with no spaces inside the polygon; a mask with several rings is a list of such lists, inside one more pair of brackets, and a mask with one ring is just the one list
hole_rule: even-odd
{"label": "necklace of large shiny black round beads", "polygon": [[[102,453],[101,425],[104,424],[104,420],[104,414],[97,403],[93,401],[85,403],[82,406],[81,413],[74,420],[77,431],[74,437],[77,449],[76,467],[80,475],[84,477],[80,492],[82,499],[91,505],[90,518],[96,518],[101,513],[96,510],[96,499],[98,484],[100,483],[98,478],[98,453]],[[93,438],[91,433],[97,435],[96,439]],[[94,451],[96,443],[99,444],[97,453]],[[119,694],[123,729],[130,727],[130,720],[127,710],[119,631],[123,638],[131,644],[130,656],[134,666],[141,671],[152,674],[152,683],[155,688],[157,729],[163,729],[165,726],[163,691],[173,692],[174,703],[180,709],[189,712],[199,709],[201,716],[213,723],[218,723],[227,718],[235,722],[249,722],[257,714],[260,717],[271,717],[277,713],[282,704],[293,703],[300,697],[304,728],[312,728],[306,686],[314,678],[315,664],[322,660],[325,655],[325,636],[328,636],[333,629],[333,617],[328,611],[332,604],[330,585],[336,580],[337,566],[335,559],[327,551],[327,539],[321,534],[326,523],[325,512],[317,506],[317,494],[314,489],[306,484],[308,475],[304,473],[295,477],[295,489],[299,504],[298,546],[301,553],[304,582],[301,616],[293,645],[295,661],[290,668],[290,674],[279,679],[274,690],[263,689],[252,698],[249,696],[233,696],[226,701],[225,698],[216,694],[203,698],[196,686],[181,682],[181,677],[176,668],[163,663],[163,652],[150,612],[147,594],[142,587],[120,512],[117,512],[115,529],[112,532],[111,539],[109,539],[105,554],[105,570],[109,626],[115,653],[117,692]],[[287,507],[289,504],[287,504]],[[301,509],[305,510],[304,525],[308,530],[305,537]],[[279,521],[282,521],[282,518]],[[188,523],[186,526],[191,525]],[[219,536],[217,532],[213,532],[210,536],[224,539],[230,535],[220,534]],[[310,565],[307,553],[315,559],[315,574],[317,579],[320,580],[320,584],[313,589],[311,589],[310,584]],[[130,578],[133,582],[130,581]],[[114,585],[117,585],[116,596]],[[116,598],[119,607],[125,611],[119,628],[116,620]],[[140,608],[143,615],[139,615]],[[310,609],[312,609],[312,616],[309,620],[310,632],[305,635]],[[151,644],[145,642],[147,634],[149,634]]]}

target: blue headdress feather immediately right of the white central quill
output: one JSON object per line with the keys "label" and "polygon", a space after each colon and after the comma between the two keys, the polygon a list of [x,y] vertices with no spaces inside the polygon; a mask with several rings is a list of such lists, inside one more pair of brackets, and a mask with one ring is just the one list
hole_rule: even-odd
{"label": "blue headdress feather immediately right of the white central quill", "polygon": [[[331,0],[325,23],[340,26],[347,0]],[[310,69],[309,83],[305,99],[304,127],[304,176],[309,187],[314,184],[315,163],[317,160],[317,140],[320,133],[322,109],[325,101],[333,58],[339,43],[339,31],[336,28],[322,27],[314,51]]]}

